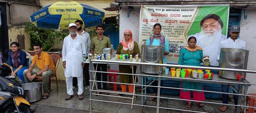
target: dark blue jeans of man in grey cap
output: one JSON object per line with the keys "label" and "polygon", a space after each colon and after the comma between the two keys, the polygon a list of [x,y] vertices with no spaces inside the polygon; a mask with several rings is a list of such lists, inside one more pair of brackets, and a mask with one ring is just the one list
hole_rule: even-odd
{"label": "dark blue jeans of man in grey cap", "polygon": [[[236,89],[238,89],[238,85],[232,85],[232,86],[234,86]],[[228,93],[229,85],[221,84],[221,89],[222,89],[223,93]],[[237,94],[237,92],[234,91],[234,89],[233,89],[233,93]],[[233,95],[233,97],[234,97],[234,103],[235,103],[235,105],[237,105],[238,95]],[[222,104],[228,104],[228,94],[222,94]],[[237,108],[237,106],[236,106],[236,108]]]}

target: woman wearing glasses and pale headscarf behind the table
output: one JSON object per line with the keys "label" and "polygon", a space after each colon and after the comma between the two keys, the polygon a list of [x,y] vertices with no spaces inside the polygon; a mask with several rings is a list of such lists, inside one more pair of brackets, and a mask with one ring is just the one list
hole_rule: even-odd
{"label": "woman wearing glasses and pale headscarf behind the table", "polygon": [[[119,43],[117,47],[116,54],[128,54],[128,58],[132,55],[133,58],[136,58],[136,55],[139,56],[139,47],[137,42],[135,42],[132,38],[132,32],[130,30],[124,31],[124,36],[122,42]],[[134,72],[132,73],[132,66],[128,65],[119,65],[119,73],[130,73],[135,74],[137,66],[133,66]],[[126,84],[134,84],[132,75],[123,75],[120,74],[120,83]],[[134,77],[135,78],[135,77]],[[138,82],[136,78],[136,82]],[[122,92],[126,92],[126,86],[121,84]],[[128,85],[129,93],[134,93],[134,85]],[[119,96],[123,96],[123,94],[119,94]]]}

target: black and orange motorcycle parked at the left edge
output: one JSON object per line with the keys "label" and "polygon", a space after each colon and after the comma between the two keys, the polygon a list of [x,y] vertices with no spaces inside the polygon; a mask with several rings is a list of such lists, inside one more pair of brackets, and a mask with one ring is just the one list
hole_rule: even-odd
{"label": "black and orange motorcycle parked at the left edge", "polygon": [[22,98],[24,87],[11,76],[7,64],[0,65],[0,111],[1,113],[31,113],[30,103]]}

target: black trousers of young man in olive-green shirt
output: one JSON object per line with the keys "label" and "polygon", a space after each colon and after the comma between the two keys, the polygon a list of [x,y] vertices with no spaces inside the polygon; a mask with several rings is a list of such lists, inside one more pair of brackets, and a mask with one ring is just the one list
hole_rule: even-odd
{"label": "black trousers of young man in olive-green shirt", "polygon": [[[93,64],[94,69],[96,70],[96,66],[97,64]],[[98,64],[97,70],[96,71],[103,71],[103,72],[107,72],[107,64]],[[102,80],[101,80],[102,78]],[[96,80],[97,81],[104,81],[107,82],[107,73],[96,73]],[[107,83],[102,83],[103,88],[101,88],[101,83],[102,82],[97,82],[97,86],[98,89],[103,89],[103,90],[107,90]]]}

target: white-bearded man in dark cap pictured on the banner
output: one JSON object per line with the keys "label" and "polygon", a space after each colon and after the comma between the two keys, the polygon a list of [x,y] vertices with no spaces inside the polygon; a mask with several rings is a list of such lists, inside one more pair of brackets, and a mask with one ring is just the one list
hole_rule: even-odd
{"label": "white-bearded man in dark cap pictured on the banner", "polygon": [[219,66],[219,62],[215,59],[217,59],[219,44],[226,39],[226,36],[222,35],[223,22],[218,15],[209,14],[202,18],[200,27],[202,31],[191,36],[197,38],[197,45],[202,47],[204,55],[214,59],[210,61],[211,66]]}

